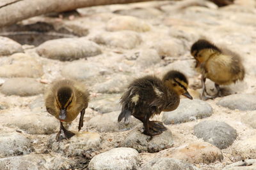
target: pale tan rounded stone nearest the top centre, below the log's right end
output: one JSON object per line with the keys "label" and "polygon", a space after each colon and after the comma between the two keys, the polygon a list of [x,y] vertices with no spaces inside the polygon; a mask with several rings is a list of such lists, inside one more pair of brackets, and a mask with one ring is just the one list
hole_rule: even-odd
{"label": "pale tan rounded stone nearest the top centre, below the log's right end", "polygon": [[150,30],[150,26],[136,17],[117,16],[108,21],[106,29],[107,31],[131,30],[136,32],[146,32]]}

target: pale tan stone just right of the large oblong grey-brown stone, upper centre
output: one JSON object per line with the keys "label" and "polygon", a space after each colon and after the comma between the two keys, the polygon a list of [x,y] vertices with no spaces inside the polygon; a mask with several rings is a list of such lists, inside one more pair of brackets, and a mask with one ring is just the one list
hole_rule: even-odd
{"label": "pale tan stone just right of the large oblong grey-brown stone, upper centre", "polygon": [[141,36],[134,31],[103,32],[93,38],[98,44],[132,49],[141,43]]}

